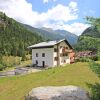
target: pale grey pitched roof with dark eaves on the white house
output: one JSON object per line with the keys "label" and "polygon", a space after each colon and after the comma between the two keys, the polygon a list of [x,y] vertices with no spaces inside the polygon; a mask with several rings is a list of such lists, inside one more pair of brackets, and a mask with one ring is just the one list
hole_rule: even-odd
{"label": "pale grey pitched roof with dark eaves on the white house", "polygon": [[31,48],[31,49],[37,49],[37,48],[50,48],[50,47],[53,47],[54,45],[62,42],[62,41],[65,41],[70,48],[72,48],[72,46],[68,43],[68,41],[66,39],[62,39],[62,40],[55,40],[55,41],[47,41],[47,42],[40,42],[38,44],[35,44],[35,45],[31,45],[29,46],[28,48]]}

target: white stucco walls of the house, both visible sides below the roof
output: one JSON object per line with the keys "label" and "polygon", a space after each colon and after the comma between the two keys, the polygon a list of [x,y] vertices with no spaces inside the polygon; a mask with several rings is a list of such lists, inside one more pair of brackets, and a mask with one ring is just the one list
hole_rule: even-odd
{"label": "white stucco walls of the house, both visible sides below the roof", "polygon": [[[32,63],[37,64],[37,66],[43,66],[44,63],[44,65],[48,67],[70,63],[69,55],[61,56],[61,54],[63,53],[63,48],[70,49],[65,41],[62,41],[54,45],[53,47],[32,49]],[[55,49],[57,51],[55,51]],[[44,57],[42,56],[43,53],[45,54]]]}

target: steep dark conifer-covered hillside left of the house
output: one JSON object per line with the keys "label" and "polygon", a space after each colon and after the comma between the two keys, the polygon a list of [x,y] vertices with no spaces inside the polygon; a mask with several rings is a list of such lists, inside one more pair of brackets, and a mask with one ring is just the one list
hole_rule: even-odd
{"label": "steep dark conifer-covered hillside left of the house", "polygon": [[24,56],[28,53],[27,46],[42,40],[35,31],[30,32],[0,12],[0,55]]}

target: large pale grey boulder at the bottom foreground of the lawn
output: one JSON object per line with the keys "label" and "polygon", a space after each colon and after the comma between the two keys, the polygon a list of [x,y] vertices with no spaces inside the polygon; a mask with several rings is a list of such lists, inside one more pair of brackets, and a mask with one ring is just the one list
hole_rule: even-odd
{"label": "large pale grey boulder at the bottom foreground of the lawn", "polygon": [[33,88],[25,100],[90,100],[89,93],[77,86]]}

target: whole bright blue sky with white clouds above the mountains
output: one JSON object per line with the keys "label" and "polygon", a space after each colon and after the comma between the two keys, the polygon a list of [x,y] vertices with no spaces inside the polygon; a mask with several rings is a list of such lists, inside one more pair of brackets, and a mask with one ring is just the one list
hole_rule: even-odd
{"label": "whole bright blue sky with white clouds above the mountains", "polygon": [[0,11],[33,27],[61,29],[80,35],[86,16],[100,17],[100,0],[0,0]]}

